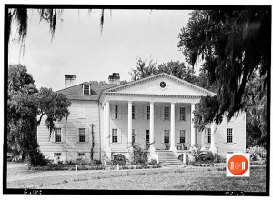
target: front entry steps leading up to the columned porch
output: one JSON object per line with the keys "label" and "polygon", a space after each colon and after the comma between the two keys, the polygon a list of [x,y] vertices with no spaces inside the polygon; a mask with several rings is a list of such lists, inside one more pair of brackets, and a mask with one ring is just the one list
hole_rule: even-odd
{"label": "front entry steps leading up to the columned porch", "polygon": [[182,161],[177,159],[177,156],[169,150],[156,150],[158,154],[159,163],[164,166],[181,166],[185,165]]}

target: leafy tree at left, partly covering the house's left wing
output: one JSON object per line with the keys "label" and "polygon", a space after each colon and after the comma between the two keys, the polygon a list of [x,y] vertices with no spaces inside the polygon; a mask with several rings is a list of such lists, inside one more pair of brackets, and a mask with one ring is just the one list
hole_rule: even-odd
{"label": "leafy tree at left, partly covering the house's left wing", "polygon": [[36,140],[37,126],[46,115],[45,125],[51,133],[56,120],[68,115],[71,103],[65,95],[52,89],[41,88],[38,91],[34,83],[25,66],[9,65],[7,145],[23,159],[28,156],[31,165],[45,165],[45,156],[40,153]]}

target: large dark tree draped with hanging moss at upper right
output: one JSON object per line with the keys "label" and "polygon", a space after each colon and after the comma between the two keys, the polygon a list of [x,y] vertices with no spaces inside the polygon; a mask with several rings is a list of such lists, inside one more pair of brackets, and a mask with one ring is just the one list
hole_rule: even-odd
{"label": "large dark tree draped with hanging moss at upper right", "polygon": [[253,72],[266,75],[271,56],[270,28],[270,8],[192,12],[179,34],[178,47],[193,66],[198,57],[203,59],[209,83],[217,91],[219,106],[214,119],[227,114],[230,120],[237,115],[244,107],[243,95]]}

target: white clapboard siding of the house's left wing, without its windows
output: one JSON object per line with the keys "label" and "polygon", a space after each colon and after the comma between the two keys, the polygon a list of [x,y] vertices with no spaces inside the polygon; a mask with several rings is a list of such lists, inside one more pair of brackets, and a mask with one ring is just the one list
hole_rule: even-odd
{"label": "white clapboard siding of the house's left wing, without its windows", "polygon": [[[75,101],[72,100],[72,105],[69,107],[70,115],[61,122],[56,122],[56,128],[65,128],[66,127],[66,142],[64,143],[54,143],[48,139],[49,130],[45,127],[45,117],[43,117],[41,125],[38,127],[38,142],[41,148],[41,151],[45,155],[53,156],[54,153],[61,153],[66,144],[71,145],[71,152],[73,153],[71,159],[77,158],[77,153],[86,153],[89,155],[92,135],[91,135],[91,124],[94,125],[94,158],[100,159],[100,133],[99,133],[99,117],[98,117],[98,104],[94,101]],[[79,118],[78,112],[79,108],[84,106],[85,108],[85,118]],[[76,130],[78,128],[89,129],[89,140],[86,143],[77,143],[76,142]],[[88,156],[87,156],[88,157]],[[62,158],[63,154],[62,154]]]}

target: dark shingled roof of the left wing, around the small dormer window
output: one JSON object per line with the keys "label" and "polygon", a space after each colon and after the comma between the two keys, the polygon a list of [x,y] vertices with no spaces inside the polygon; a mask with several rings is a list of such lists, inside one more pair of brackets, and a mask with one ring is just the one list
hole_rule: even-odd
{"label": "dark shingled roof of the left wing, around the small dormer window", "polygon": [[[91,85],[91,95],[83,95],[83,85]],[[110,87],[116,86],[116,84],[84,82],[82,84],[67,87],[65,89],[56,91],[62,93],[70,100],[88,100],[98,101],[100,93]]]}

